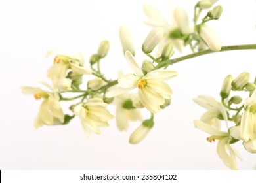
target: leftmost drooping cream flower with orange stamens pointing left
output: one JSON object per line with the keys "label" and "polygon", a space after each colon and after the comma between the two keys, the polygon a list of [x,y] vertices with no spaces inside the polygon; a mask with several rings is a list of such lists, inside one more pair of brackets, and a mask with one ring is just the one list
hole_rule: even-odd
{"label": "leftmost drooping cream flower with orange stamens pointing left", "polygon": [[[48,86],[48,85],[47,85]],[[64,113],[60,106],[60,96],[56,92],[47,92],[41,88],[22,86],[22,92],[34,95],[36,100],[43,98],[37,117],[35,118],[35,128],[42,125],[58,125],[64,122]]]}

